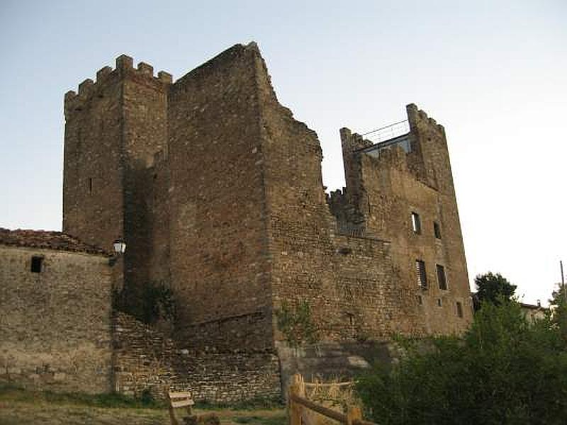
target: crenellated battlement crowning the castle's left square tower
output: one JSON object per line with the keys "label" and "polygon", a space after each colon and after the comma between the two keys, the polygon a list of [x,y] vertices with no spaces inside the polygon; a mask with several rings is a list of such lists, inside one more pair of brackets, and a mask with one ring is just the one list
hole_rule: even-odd
{"label": "crenellated battlement crowning the castle's left square tower", "polygon": [[128,55],[120,55],[116,58],[116,67],[102,67],[96,72],[96,81],[85,79],[79,84],[78,90],[69,90],[64,96],[65,115],[72,111],[81,111],[86,102],[89,102],[94,95],[101,96],[101,91],[106,84],[112,84],[119,79],[134,77],[147,81],[155,86],[167,86],[172,84],[173,76],[169,72],[159,71],[157,77],[154,76],[154,67],[146,62],[139,62],[134,67],[134,60]]}

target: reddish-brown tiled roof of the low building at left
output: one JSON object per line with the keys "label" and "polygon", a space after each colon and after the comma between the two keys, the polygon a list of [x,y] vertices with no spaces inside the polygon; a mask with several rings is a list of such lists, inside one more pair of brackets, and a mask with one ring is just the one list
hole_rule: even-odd
{"label": "reddish-brown tiled roof of the low building at left", "polygon": [[108,255],[108,252],[98,246],[85,244],[69,234],[50,230],[10,230],[0,227],[0,245]]}

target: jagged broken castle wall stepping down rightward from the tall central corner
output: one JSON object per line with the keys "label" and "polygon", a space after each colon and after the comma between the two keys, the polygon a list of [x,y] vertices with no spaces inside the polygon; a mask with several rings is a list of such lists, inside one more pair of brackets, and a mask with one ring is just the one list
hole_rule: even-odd
{"label": "jagged broken castle wall stepping down rightward from the tall central corner", "polygon": [[[279,104],[259,55],[256,67],[274,308],[308,302],[322,341],[382,339],[403,315],[390,246],[339,232],[322,186],[317,135]],[[276,326],[276,340],[286,339]]]}

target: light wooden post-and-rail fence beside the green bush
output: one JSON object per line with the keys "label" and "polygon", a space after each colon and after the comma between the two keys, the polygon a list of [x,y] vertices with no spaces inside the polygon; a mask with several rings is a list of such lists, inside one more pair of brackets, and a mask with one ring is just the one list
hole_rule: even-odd
{"label": "light wooden post-and-rail fence beside the green bush", "polygon": [[[346,384],[343,383],[332,385]],[[305,412],[305,409],[312,410],[313,412],[317,412],[318,414],[322,414],[327,418],[339,422],[339,424],[376,425],[374,424],[374,422],[369,422],[362,419],[362,413],[360,407],[358,406],[349,406],[347,409],[347,414],[344,414],[306,399],[305,381],[303,380],[303,376],[296,373],[296,375],[293,375],[291,379],[291,385],[289,386],[288,392],[289,425],[303,425],[303,413]]]}

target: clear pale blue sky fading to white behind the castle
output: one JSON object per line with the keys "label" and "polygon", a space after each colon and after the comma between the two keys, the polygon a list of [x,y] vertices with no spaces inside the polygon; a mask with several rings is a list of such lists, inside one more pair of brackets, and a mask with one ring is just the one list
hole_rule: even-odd
{"label": "clear pale blue sky fading to white behind the castle", "polygon": [[283,105],[344,183],[339,128],[447,130],[471,280],[546,300],[567,261],[567,2],[0,3],[0,227],[60,229],[63,94],[121,53],[181,77],[256,40]]}

